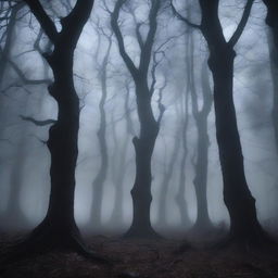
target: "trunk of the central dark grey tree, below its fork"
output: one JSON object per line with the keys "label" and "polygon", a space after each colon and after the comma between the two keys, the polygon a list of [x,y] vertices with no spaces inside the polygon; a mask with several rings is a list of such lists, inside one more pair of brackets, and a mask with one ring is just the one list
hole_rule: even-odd
{"label": "trunk of the central dark grey tree, below its fork", "polygon": [[159,124],[154,119],[151,97],[148,85],[138,81],[137,108],[140,121],[140,136],[135,137],[132,142],[136,153],[136,179],[131,189],[134,217],[132,224],[125,237],[154,238],[156,232],[151,226],[151,160],[155,140],[159,134]]}

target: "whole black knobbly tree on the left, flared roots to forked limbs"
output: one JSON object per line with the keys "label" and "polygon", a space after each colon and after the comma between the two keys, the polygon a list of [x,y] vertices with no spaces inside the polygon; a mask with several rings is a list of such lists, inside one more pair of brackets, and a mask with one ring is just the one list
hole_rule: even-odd
{"label": "whole black knobbly tree on the left, flared roots to forked limbs", "polygon": [[15,255],[51,248],[74,250],[93,256],[86,250],[74,219],[75,167],[78,154],[79,99],[73,80],[74,51],[90,16],[93,0],[78,0],[70,14],[61,18],[61,31],[38,0],[26,0],[31,13],[53,45],[45,53],[54,81],[49,93],[58,102],[58,119],[49,130],[47,142],[51,154],[51,192],[45,219],[18,247]]}

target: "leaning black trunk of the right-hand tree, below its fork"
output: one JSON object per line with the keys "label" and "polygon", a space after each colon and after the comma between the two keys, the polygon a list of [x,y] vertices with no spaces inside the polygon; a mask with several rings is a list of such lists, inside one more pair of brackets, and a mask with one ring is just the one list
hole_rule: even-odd
{"label": "leaning black trunk of the right-hand tree, below its fork", "polygon": [[239,242],[256,243],[264,231],[257,220],[255,199],[244,175],[232,98],[235,56],[235,51],[227,45],[223,46],[220,52],[211,51],[208,60],[214,79],[216,138],[224,179],[224,201],[230,215],[230,237]]}

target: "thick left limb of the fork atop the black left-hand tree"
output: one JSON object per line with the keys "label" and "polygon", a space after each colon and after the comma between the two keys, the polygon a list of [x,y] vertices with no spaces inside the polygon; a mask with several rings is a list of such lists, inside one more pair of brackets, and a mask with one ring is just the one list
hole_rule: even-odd
{"label": "thick left limb of the fork atop the black left-hand tree", "polygon": [[28,4],[31,13],[35,15],[35,17],[39,22],[41,28],[45,30],[45,33],[47,34],[49,39],[52,42],[55,42],[55,40],[58,38],[56,27],[55,27],[54,23],[52,22],[52,20],[46,13],[46,11],[45,11],[43,7],[40,4],[39,0],[24,0],[24,1]]}

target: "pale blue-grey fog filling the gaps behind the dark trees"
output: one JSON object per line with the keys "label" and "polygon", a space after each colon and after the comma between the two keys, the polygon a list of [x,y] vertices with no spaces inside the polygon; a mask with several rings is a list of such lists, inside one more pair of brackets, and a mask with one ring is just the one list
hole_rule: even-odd
{"label": "pale blue-grey fog filling the gaps behind the dark trees", "polygon": [[[48,14],[55,18],[58,29],[61,26],[56,18],[68,13],[70,2],[41,1]],[[188,1],[187,7],[174,2],[176,9],[191,22],[200,23],[197,1]],[[237,0],[220,3],[219,17],[228,40],[241,18],[244,4]],[[9,7],[1,4],[1,16],[4,16]],[[114,4],[114,0],[96,1],[74,55],[74,81],[80,100],[75,218],[83,232],[102,235],[124,232],[130,226],[130,190],[136,176],[132,138],[140,130],[135,81],[123,62],[111,27]],[[118,23],[125,48],[136,66],[140,64],[137,26],[139,23],[141,37],[146,39],[149,12],[148,0],[127,1],[119,12]],[[50,153],[47,140],[49,128],[56,119],[58,105],[48,93],[53,76],[42,56],[42,53],[52,50],[51,43],[26,5],[18,10],[13,26],[11,11],[8,15],[10,20],[1,21],[0,28],[0,216],[2,230],[21,231],[39,224],[48,210]],[[255,2],[235,48],[233,97],[245,175],[256,199],[258,219],[267,229],[276,229],[278,152],[271,115],[274,80],[269,62],[269,30],[265,16],[264,4]],[[198,128],[194,110],[200,111],[205,104],[202,92],[205,75],[210,85],[206,89],[213,93],[207,58],[207,46],[202,34],[178,21],[165,1],[157,15],[148,71],[150,86],[155,78],[152,97],[154,116],[156,119],[162,116],[152,156],[151,187],[151,222],[161,232],[186,231],[197,219],[193,180],[198,161]],[[163,115],[162,104],[165,108]],[[102,137],[100,127],[102,131],[105,128]],[[208,216],[214,225],[228,226],[213,102],[207,114],[207,135]],[[106,147],[106,154],[103,154],[103,146]],[[106,155],[104,164],[103,155]],[[104,180],[103,185],[96,187],[101,164],[104,165]],[[182,172],[186,179],[184,191],[182,185],[180,187]],[[177,205],[180,193],[188,210],[189,219],[186,223]],[[97,194],[94,202],[101,207],[100,222],[96,220],[98,216],[92,212],[93,194]]]}

